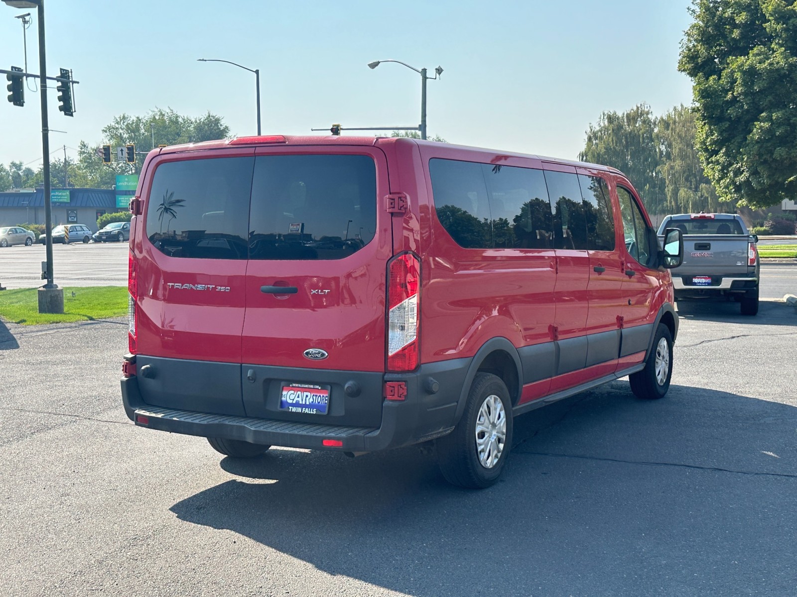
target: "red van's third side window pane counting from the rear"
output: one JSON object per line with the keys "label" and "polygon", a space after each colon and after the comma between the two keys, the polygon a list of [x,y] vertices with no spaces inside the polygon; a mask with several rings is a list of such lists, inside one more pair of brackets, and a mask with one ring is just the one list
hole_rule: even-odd
{"label": "red van's third side window pane counting from the rear", "polygon": [[568,172],[545,170],[548,195],[554,208],[556,248],[589,248],[587,243],[587,217],[581,199],[579,178]]}

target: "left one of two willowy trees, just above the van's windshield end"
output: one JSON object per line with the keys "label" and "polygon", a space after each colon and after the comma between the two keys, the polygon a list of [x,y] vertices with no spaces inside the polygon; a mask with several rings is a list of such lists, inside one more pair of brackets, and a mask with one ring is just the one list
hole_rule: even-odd
{"label": "left one of two willowy trees, just above the van's windshield end", "polygon": [[664,213],[666,203],[656,126],[657,119],[646,103],[622,114],[603,112],[598,124],[587,130],[587,142],[579,154],[582,162],[613,166],[625,174],[652,214]]}

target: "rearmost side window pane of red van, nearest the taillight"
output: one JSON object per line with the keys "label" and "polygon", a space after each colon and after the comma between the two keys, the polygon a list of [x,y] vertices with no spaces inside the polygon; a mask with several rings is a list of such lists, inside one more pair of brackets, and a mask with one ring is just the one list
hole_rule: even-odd
{"label": "rearmost side window pane of red van, nearest the taillight", "polygon": [[463,248],[491,248],[493,229],[481,164],[429,161],[434,208],[451,238]]}

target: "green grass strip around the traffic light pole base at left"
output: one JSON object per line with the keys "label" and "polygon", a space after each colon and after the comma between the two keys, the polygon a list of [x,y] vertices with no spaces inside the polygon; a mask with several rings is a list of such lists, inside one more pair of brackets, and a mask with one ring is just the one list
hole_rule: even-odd
{"label": "green grass strip around the traffic light pole base at left", "polygon": [[65,287],[63,314],[39,313],[37,292],[36,288],[0,292],[0,318],[36,326],[123,317],[128,313],[128,289],[124,286]]}

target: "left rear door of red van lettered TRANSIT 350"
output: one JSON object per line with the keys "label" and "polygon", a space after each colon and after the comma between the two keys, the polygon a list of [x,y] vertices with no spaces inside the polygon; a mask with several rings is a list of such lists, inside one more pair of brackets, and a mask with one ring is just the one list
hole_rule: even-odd
{"label": "left rear door of red van lettered TRANSIT 350", "polygon": [[[143,189],[137,365],[147,404],[243,415],[241,330],[254,152],[156,158]],[[136,226],[142,225],[137,223]]]}

